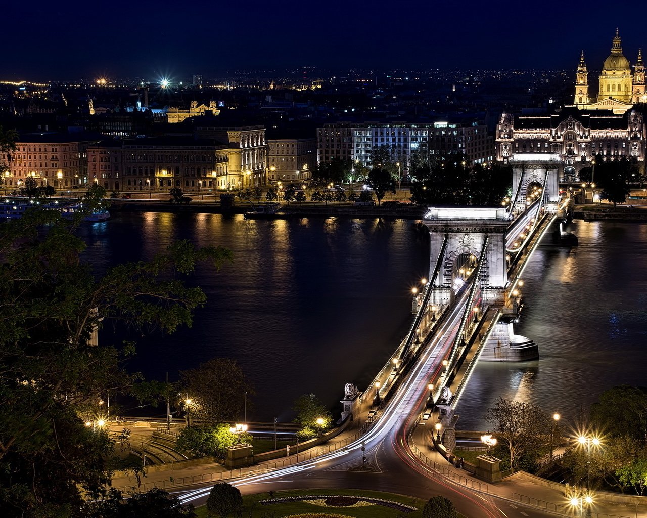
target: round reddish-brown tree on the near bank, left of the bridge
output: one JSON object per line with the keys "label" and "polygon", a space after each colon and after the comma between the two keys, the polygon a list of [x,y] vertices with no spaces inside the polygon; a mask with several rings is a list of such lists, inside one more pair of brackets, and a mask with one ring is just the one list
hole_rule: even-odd
{"label": "round reddish-brown tree on the near bank, left of the bridge", "polygon": [[254,394],[233,358],[214,358],[180,372],[181,399],[190,398],[193,418],[215,424],[243,415],[245,392]]}

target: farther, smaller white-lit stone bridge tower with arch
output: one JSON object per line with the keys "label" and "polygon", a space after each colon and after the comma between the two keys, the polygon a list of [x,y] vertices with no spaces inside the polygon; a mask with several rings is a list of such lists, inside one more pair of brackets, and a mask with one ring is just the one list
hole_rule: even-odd
{"label": "farther, smaller white-lit stone bridge tower with arch", "polygon": [[[549,212],[556,212],[559,201],[560,155],[556,153],[531,153],[514,155],[508,163],[512,166],[512,200],[510,208],[513,214],[523,212],[525,203],[539,186],[542,189],[544,206]],[[573,157],[575,159],[575,157]]]}

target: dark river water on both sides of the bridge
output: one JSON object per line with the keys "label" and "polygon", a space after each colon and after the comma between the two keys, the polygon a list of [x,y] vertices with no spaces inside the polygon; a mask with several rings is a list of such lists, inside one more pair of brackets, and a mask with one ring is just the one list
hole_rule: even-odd
{"label": "dark river water on both sides of the bridge", "polygon": [[[539,344],[541,359],[479,365],[457,409],[459,428],[486,427],[481,416],[499,396],[568,419],[600,390],[644,383],[647,225],[582,222],[571,230],[578,248],[540,247],[524,275],[516,332]],[[178,239],[232,249],[234,264],[219,272],[204,265],[190,277],[208,296],[192,328],[130,337],[138,355],[127,366],[174,380],[201,361],[234,357],[256,387],[248,420],[289,420],[300,394],[332,407],[345,383],[366,387],[406,335],[410,290],[429,264],[428,235],[408,220],[118,213],[83,227],[83,237],[84,258],[99,273]],[[100,339],[113,337],[104,330]]]}

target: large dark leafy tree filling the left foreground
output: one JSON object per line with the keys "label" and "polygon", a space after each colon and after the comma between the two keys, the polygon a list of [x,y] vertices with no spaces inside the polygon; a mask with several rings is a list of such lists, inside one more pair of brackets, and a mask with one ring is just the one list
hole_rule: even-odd
{"label": "large dark leafy tree filling the left foreground", "polygon": [[219,269],[232,258],[183,241],[98,276],[80,258],[75,224],[34,211],[0,225],[0,508],[8,518],[80,516],[85,499],[105,494],[113,440],[98,423],[96,400],[131,392],[137,377],[119,365],[134,344],[109,335],[96,344],[94,331],[190,325],[206,298],[184,276],[200,262]]}

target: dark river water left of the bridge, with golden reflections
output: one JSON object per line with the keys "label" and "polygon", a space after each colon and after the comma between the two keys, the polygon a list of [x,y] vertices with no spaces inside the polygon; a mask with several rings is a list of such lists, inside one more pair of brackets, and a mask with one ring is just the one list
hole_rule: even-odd
{"label": "dark river water left of the bridge, with golden reflections", "polygon": [[[428,271],[428,235],[411,221],[146,213],[84,231],[97,271],[149,259],[178,239],[232,249],[234,264],[192,276],[208,296],[193,327],[133,337],[138,357],[129,368],[177,379],[201,361],[235,357],[256,385],[253,419],[289,418],[303,393],[333,406],[345,383],[366,387],[406,334],[409,286]],[[100,337],[112,338],[109,330]]]}

